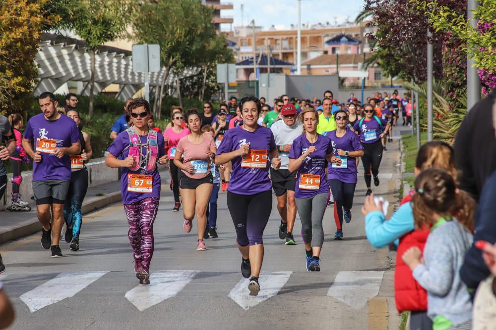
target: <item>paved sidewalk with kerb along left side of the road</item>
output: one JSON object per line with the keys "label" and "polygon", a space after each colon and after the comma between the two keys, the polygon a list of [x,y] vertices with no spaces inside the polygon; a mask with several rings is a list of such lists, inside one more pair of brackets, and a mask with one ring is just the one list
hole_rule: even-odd
{"label": "paved sidewalk with kerb along left side of the road", "polygon": [[[169,172],[165,167],[160,171],[162,181],[169,182]],[[88,188],[84,198],[82,213],[88,214],[112,203],[122,200],[119,181]],[[41,224],[36,217],[36,205],[30,203],[30,212],[0,211],[0,244],[23,236],[31,235],[41,230]]]}

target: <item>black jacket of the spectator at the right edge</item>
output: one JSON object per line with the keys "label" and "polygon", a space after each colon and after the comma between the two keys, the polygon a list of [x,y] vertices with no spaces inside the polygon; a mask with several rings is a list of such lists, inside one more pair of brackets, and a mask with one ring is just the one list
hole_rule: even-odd
{"label": "black jacket of the spectator at the right edge", "polygon": [[459,171],[460,189],[477,201],[484,184],[496,170],[496,137],[493,127],[493,104],[496,88],[477,102],[463,119],[453,148]]}

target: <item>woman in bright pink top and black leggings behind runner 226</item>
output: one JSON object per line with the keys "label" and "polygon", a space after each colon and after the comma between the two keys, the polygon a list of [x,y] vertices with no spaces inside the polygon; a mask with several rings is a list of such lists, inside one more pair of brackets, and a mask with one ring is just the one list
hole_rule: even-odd
{"label": "woman in bright pink top and black leggings behind runner 226", "polygon": [[169,169],[171,171],[172,177],[172,191],[174,193],[174,212],[179,211],[181,206],[181,200],[179,199],[179,170],[174,164],[174,157],[176,156],[176,150],[181,138],[189,134],[189,130],[183,127],[184,116],[182,112],[174,112],[172,114],[172,127],[168,128],[164,132],[165,141],[165,151],[169,157]]}

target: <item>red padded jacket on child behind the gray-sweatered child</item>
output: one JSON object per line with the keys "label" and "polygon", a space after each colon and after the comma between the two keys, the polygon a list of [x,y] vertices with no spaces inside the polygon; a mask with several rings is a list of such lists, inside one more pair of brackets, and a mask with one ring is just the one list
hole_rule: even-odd
{"label": "red padded jacket on child behind the gray-sweatered child", "polygon": [[[410,191],[400,204],[410,202],[413,193],[413,190]],[[400,238],[394,271],[394,299],[396,300],[396,309],[400,313],[403,311],[427,311],[427,291],[415,281],[412,271],[401,259],[403,253],[412,246],[417,246],[423,253],[427,236],[429,236],[429,230],[414,230]]]}

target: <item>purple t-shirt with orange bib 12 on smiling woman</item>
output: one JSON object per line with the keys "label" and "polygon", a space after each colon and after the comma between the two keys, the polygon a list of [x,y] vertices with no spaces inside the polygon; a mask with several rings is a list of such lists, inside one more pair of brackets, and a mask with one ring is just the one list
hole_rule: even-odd
{"label": "purple t-shirt with orange bib 12 on smiling woman", "polygon": [[233,172],[228,190],[240,195],[271,190],[268,174],[269,154],[277,146],[270,128],[258,126],[255,132],[248,132],[238,126],[228,130],[217,149],[217,155],[238,150],[247,143],[250,151],[253,151],[245,157],[236,157],[231,161]]}

